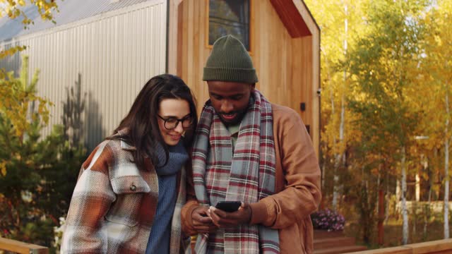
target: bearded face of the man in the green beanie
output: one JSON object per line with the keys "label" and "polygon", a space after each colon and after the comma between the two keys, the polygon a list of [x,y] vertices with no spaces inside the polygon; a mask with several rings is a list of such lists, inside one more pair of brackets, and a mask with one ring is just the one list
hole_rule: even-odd
{"label": "bearded face of the man in the green beanie", "polygon": [[234,125],[242,121],[248,108],[254,84],[207,81],[210,102],[225,125]]}

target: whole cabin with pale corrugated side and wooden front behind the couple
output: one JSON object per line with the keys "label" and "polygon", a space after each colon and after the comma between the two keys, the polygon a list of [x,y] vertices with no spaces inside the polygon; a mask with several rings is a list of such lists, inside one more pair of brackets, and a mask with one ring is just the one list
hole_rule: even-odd
{"label": "whole cabin with pale corrugated side and wooden front behind the couple", "polygon": [[[58,1],[57,25],[35,17],[0,19],[0,49],[28,45],[30,75],[40,69],[38,93],[54,102],[61,123],[66,88],[81,83],[83,139],[92,149],[112,133],[153,75],[175,73],[193,88],[198,109],[208,99],[202,80],[211,44],[231,33],[246,44],[257,87],[271,102],[295,109],[319,155],[320,32],[302,0]],[[21,56],[0,60],[18,71]],[[44,133],[44,134],[46,134]]]}

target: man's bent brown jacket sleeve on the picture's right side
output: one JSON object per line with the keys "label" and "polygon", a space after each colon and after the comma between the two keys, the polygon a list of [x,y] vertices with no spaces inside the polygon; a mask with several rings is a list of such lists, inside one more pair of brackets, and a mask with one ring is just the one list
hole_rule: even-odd
{"label": "man's bent brown jacket sleeve on the picture's right side", "polygon": [[280,150],[285,186],[282,191],[250,204],[250,223],[283,229],[306,219],[317,209],[321,174],[311,138],[299,115],[290,111],[277,124],[275,143]]}

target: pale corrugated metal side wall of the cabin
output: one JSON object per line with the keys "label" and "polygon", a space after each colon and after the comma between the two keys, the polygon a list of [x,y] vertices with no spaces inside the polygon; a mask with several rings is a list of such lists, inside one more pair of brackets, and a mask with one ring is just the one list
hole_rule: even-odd
{"label": "pale corrugated metal side wall of the cabin", "polygon": [[[30,56],[30,76],[40,69],[38,93],[55,104],[44,135],[62,123],[65,87],[79,73],[86,93],[85,143],[92,149],[112,133],[145,82],[165,73],[166,8],[165,0],[148,1],[13,42],[28,45],[23,54]],[[16,55],[0,68],[18,70],[20,61]]]}

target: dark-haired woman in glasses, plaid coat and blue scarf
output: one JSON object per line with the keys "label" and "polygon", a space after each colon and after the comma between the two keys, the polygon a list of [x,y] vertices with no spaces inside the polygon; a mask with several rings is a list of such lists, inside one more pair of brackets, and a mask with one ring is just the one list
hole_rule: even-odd
{"label": "dark-haired woman in glasses, plaid coat and blue scarf", "polygon": [[151,78],[114,134],[83,163],[61,253],[182,252],[183,166],[196,119],[183,80]]}

